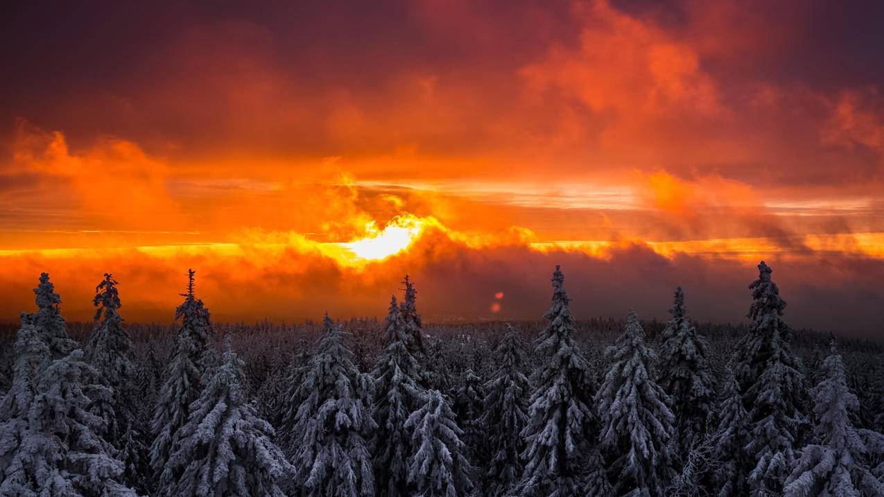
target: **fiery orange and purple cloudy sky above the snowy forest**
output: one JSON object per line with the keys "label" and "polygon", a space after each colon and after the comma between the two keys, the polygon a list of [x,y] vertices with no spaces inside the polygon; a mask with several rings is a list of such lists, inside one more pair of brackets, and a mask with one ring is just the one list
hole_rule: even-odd
{"label": "fiery orange and purple cloudy sky above the snowy forest", "polygon": [[414,0],[0,7],[0,320],[49,271],[171,321],[740,323],[884,333],[884,7]]}

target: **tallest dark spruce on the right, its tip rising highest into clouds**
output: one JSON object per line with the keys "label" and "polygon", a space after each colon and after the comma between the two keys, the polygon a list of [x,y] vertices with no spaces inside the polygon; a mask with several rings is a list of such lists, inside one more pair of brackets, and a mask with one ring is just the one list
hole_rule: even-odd
{"label": "tallest dark spruce on the right, its tip rising highest into clouds", "polygon": [[749,286],[750,331],[737,345],[732,367],[749,413],[752,495],[780,494],[795,464],[804,423],[804,377],[792,354],[789,325],[782,320],[786,302],[771,279],[771,268],[758,264],[758,279]]}

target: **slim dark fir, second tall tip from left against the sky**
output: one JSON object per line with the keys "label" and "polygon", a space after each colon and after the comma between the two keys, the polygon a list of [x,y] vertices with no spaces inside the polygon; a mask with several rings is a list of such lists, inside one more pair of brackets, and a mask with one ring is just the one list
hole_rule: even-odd
{"label": "slim dark fir, second tall tip from left against the sky", "polygon": [[103,418],[104,438],[125,455],[126,483],[147,493],[150,478],[147,429],[133,412],[137,403],[133,346],[118,312],[122,304],[117,284],[110,273],[104,273],[104,279],[95,287],[93,304],[97,309],[86,358],[97,373],[95,383],[110,388],[111,394],[94,395],[89,410]]}

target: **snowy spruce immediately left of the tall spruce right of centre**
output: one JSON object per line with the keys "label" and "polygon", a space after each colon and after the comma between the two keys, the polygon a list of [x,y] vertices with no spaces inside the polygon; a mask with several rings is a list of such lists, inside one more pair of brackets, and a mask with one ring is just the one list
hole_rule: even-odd
{"label": "snowy spruce immediately left of the tall spruce right of centre", "polygon": [[[509,326],[509,325],[507,325]],[[524,398],[530,391],[522,373],[522,344],[512,326],[496,350],[498,370],[484,385],[484,443],[490,461],[485,488],[489,495],[502,495],[522,475],[522,429],[528,419]]]}

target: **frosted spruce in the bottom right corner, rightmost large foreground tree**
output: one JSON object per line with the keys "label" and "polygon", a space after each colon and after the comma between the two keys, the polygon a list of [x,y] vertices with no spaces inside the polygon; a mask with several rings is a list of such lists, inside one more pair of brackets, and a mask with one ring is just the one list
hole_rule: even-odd
{"label": "frosted spruce in the bottom right corner, rightmost large foreground tree", "polygon": [[811,390],[818,444],[804,447],[786,480],[788,497],[884,495],[884,482],[875,478],[866,461],[863,438],[850,419],[859,409],[857,396],[847,386],[842,357],[835,349],[823,363],[823,379]]}

